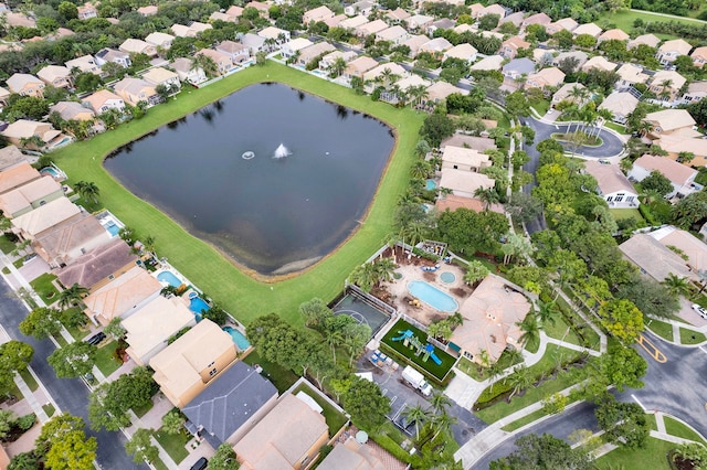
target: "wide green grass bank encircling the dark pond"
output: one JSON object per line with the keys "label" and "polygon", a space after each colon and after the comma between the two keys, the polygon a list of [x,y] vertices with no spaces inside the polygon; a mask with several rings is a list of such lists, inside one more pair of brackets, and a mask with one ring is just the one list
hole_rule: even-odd
{"label": "wide green grass bank encircling the dark pond", "polygon": [[[365,224],[338,250],[312,269],[275,284],[257,280],[253,273],[239,270],[211,245],[191,236],[166,214],[123,188],[102,164],[114,149],[240,88],[265,81],[277,81],[369,114],[393,127],[398,136],[393,156]],[[413,150],[423,118],[423,114],[412,109],[372,102],[368,96],[358,96],[342,86],[268,63],[233,74],[203,89],[181,93],[177,99],[151,108],[143,119],[122,125],[89,141],[72,143],[53,152],[52,157],[70,175],[70,184],[78,180],[94,182],[101,189],[101,202],[110,212],[134,227],[138,235],[155,236],[157,253],[168,257],[225,310],[239,312],[241,322],[247,324],[254,318],[274,311],[293,324],[302,324],[297,307],[314,297],[327,301],[334,299],[348,274],[378,249],[381,241],[391,233],[395,202],[410,180],[409,168],[414,160]]]}

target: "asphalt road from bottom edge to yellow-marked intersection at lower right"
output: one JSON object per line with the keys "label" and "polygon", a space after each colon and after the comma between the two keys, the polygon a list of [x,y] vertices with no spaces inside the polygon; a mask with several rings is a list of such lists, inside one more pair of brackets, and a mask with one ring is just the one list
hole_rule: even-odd
{"label": "asphalt road from bottom edge to yellow-marked intersection at lower right", "polygon": [[[646,337],[665,354],[667,362],[658,363],[643,348],[634,348],[648,363],[643,377],[645,386],[640,389],[626,388],[623,393],[614,393],[622,402],[636,403],[647,412],[658,410],[677,416],[707,436],[707,352],[699,348],[686,348],[667,343],[653,333]],[[555,416],[527,431],[519,432],[499,442],[490,452],[479,459],[474,469],[487,469],[490,461],[507,456],[515,450],[517,438],[529,434],[549,432],[566,439],[574,429],[597,429],[594,407],[581,404],[570,410]]]}

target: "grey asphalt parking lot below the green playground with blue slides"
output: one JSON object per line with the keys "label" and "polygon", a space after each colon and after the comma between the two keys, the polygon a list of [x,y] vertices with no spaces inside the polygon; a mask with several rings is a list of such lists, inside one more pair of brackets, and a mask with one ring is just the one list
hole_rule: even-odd
{"label": "grey asphalt parking lot below the green playground with blue slides", "polygon": [[[390,399],[391,410],[388,414],[389,419],[401,427],[405,408],[416,405],[422,405],[423,407],[431,406],[424,396],[408,386],[402,380],[402,371],[405,367],[404,364],[400,364],[397,371],[393,371],[390,367],[381,368],[373,365],[368,360],[370,355],[371,353],[368,352],[359,359],[358,372],[372,373],[373,382],[380,386],[383,395]],[[450,415],[455,416],[458,420],[456,425],[452,426],[452,434],[454,435],[454,440],[456,440],[460,446],[487,426],[468,409],[462,408],[454,402],[452,402],[449,413]],[[414,437],[414,425],[408,426],[404,431],[409,436]]]}

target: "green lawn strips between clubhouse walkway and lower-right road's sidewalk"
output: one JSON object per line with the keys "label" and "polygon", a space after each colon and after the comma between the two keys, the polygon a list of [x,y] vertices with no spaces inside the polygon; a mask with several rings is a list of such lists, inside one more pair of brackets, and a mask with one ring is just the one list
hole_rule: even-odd
{"label": "green lawn strips between clubhouse walkway and lower-right road's sidewalk", "polygon": [[[535,377],[540,374],[548,373],[557,365],[558,362],[566,362],[570,359],[577,357],[578,354],[579,353],[577,351],[550,344],[548,345],[540,362],[530,367],[530,375]],[[523,396],[515,395],[510,403],[506,400],[498,402],[488,408],[476,412],[476,415],[488,424],[496,423],[505,416],[508,416],[536,402],[542,400],[548,395],[552,395],[553,393],[580,382],[583,377],[584,374],[582,373],[577,375],[559,374],[553,380],[548,380],[539,386],[528,387]]]}

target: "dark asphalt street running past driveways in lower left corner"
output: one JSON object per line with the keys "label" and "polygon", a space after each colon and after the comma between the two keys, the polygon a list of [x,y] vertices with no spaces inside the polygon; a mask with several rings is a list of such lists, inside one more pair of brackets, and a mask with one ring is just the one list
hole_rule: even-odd
{"label": "dark asphalt street running past driveways in lower left corner", "polygon": [[[62,410],[74,416],[81,416],[88,423],[86,406],[88,404],[88,389],[78,378],[56,378],[54,370],[46,362],[46,356],[54,351],[54,344],[50,340],[36,341],[20,333],[18,325],[27,316],[27,309],[14,297],[10,287],[0,281],[0,323],[8,334],[15,340],[31,344],[34,348],[34,357],[31,366],[52,395]],[[136,466],[125,452],[125,436],[120,432],[94,432],[86,428],[88,436],[98,440],[97,461],[103,469],[147,469],[147,466]]]}

